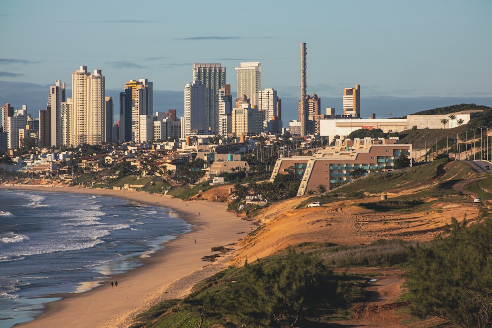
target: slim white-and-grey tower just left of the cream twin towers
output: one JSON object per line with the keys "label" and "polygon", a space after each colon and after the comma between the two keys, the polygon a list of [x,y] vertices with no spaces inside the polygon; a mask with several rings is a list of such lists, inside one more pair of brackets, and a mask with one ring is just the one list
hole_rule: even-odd
{"label": "slim white-and-grey tower just left of the cream twin towers", "polygon": [[65,83],[56,80],[48,92],[48,110],[50,115],[50,146],[63,144],[62,103],[66,102]]}

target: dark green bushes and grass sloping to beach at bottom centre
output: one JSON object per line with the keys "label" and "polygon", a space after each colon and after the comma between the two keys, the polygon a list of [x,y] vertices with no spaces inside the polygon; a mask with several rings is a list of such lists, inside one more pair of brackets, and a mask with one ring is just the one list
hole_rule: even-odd
{"label": "dark green bushes and grass sloping to beach at bottom centre", "polygon": [[[138,318],[145,327],[309,327],[327,309],[360,297],[322,260],[293,250],[208,279],[179,302],[161,303]],[[149,321],[158,317],[158,321]],[[201,326],[187,326],[193,322]],[[244,326],[242,326],[244,325]],[[138,324],[132,327],[141,327]]]}

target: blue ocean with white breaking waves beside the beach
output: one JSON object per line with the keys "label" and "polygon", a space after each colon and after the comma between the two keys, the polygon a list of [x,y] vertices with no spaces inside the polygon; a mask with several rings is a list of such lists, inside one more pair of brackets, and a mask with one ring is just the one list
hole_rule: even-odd
{"label": "blue ocean with white breaking waves beside the beach", "polygon": [[120,198],[1,189],[0,328],[137,268],[190,228],[172,209]]}

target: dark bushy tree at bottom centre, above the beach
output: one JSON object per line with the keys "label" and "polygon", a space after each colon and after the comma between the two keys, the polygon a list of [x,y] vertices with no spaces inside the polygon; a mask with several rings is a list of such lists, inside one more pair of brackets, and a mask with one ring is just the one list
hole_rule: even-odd
{"label": "dark bushy tree at bottom centre, above the beach", "polygon": [[206,315],[220,308],[247,327],[294,327],[317,309],[344,305],[332,269],[312,254],[292,250],[274,260],[246,261],[227,284],[218,296],[210,291],[188,302],[202,305]]}

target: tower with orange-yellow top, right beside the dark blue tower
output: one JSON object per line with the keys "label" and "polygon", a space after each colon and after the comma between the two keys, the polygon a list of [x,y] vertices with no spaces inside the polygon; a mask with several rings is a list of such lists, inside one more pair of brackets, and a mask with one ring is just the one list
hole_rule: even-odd
{"label": "tower with orange-yellow top, right beside the dark blue tower", "polygon": [[[131,138],[135,142],[142,142],[140,140],[140,123],[139,119],[141,115],[153,114],[153,100],[152,98],[152,82],[147,79],[130,80],[126,82],[125,90],[130,89],[131,92],[131,118],[120,117],[120,121],[131,120]],[[145,126],[145,125],[142,125]],[[121,132],[120,132],[121,134]],[[142,134],[143,136],[144,134]]]}

